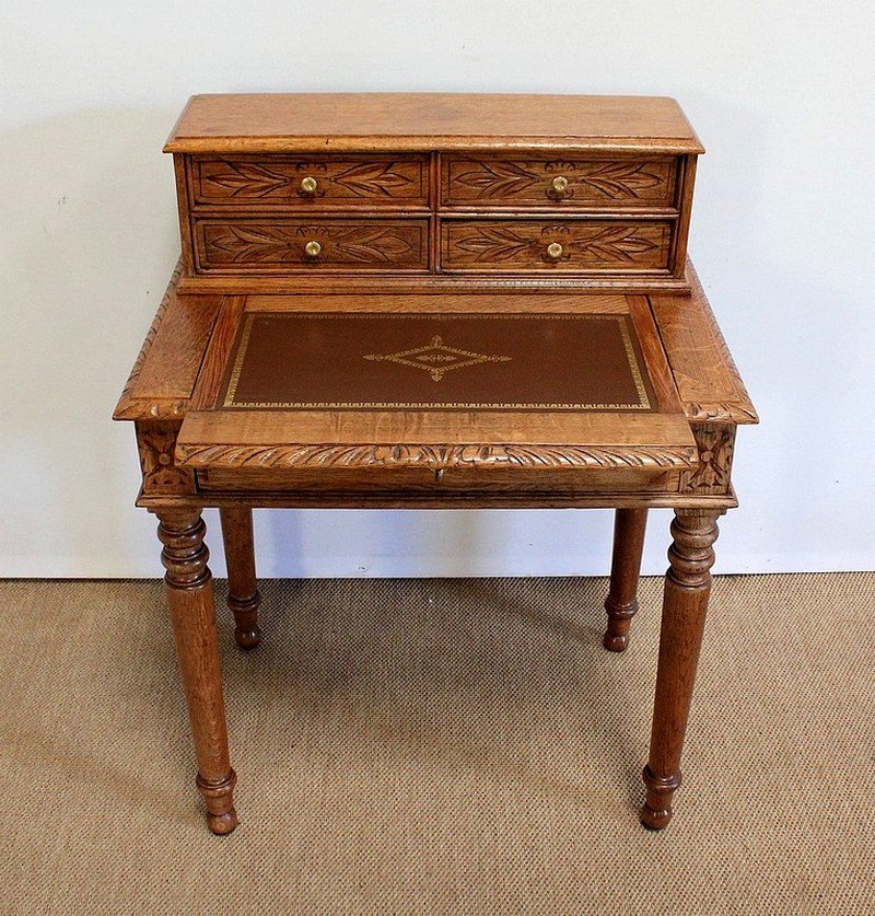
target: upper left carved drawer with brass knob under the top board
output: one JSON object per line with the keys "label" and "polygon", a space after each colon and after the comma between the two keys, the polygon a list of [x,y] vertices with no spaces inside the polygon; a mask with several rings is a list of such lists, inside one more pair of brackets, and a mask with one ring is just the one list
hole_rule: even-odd
{"label": "upper left carved drawer with brass knob under the top board", "polygon": [[294,207],[425,206],[424,155],[195,156],[196,205]]}

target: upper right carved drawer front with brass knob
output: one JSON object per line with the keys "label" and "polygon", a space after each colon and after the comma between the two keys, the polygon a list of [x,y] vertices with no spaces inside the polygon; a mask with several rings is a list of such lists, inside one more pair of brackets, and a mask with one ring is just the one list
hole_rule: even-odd
{"label": "upper right carved drawer front with brass knob", "polygon": [[441,171],[448,207],[673,207],[677,159],[446,156]]}

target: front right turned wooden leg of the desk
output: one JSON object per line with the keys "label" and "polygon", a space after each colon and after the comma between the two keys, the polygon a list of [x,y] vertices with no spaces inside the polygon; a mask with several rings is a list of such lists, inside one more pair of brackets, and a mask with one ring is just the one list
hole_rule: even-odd
{"label": "front right turned wooden leg of the desk", "polygon": [[711,592],[719,515],[677,510],[672,522],[653,731],[644,767],[648,797],[641,809],[641,822],[651,830],[662,830],[672,820],[672,797],[680,785],[680,754]]}

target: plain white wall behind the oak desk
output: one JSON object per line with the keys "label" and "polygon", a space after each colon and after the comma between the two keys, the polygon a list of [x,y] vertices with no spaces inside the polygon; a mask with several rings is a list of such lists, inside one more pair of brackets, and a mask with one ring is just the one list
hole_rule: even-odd
{"label": "plain white wall behind the oak desk", "polygon": [[[691,254],[763,420],[739,434],[716,568],[875,568],[871,10],[4,0],[0,575],[158,573],[132,430],[109,414],[176,257],[161,147],[190,93],[282,90],[676,96],[709,149]],[[610,527],[572,511],[256,518],[271,576],[604,571]],[[653,513],[649,571],[667,521]]]}

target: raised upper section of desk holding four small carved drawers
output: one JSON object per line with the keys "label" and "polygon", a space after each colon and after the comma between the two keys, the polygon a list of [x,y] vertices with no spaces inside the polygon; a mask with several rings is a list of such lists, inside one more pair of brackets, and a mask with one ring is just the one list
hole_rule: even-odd
{"label": "raised upper section of desk holding four small carved drawers", "polygon": [[687,291],[672,98],[198,95],[165,149],[184,292]]}

